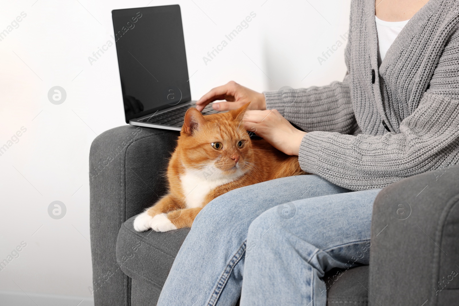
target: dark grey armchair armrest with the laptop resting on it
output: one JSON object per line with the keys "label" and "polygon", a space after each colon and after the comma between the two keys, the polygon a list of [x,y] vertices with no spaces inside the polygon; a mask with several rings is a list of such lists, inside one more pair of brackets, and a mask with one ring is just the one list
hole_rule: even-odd
{"label": "dark grey armchair armrest with the laptop resting on it", "polygon": [[116,260],[124,221],[166,192],[166,171],[178,132],[134,126],[112,128],[90,149],[90,233],[95,305],[129,305],[129,279]]}

